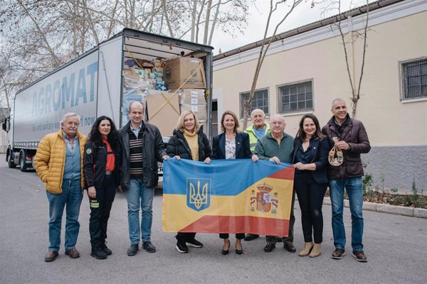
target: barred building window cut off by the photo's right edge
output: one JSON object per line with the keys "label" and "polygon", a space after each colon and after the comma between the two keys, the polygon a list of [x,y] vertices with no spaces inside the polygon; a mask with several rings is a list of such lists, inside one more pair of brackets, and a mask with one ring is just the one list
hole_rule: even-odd
{"label": "barred building window cut off by the photo's right edge", "polygon": [[427,97],[427,58],[400,62],[399,69],[401,101]]}

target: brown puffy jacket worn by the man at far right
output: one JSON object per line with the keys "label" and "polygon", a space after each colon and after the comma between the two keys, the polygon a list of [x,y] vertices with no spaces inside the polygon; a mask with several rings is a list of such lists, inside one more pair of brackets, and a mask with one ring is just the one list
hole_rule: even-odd
{"label": "brown puffy jacket worn by the man at far right", "polygon": [[332,116],[332,119],[323,126],[322,133],[329,138],[330,148],[334,146],[333,137],[339,138],[340,141],[346,141],[351,147],[349,151],[343,151],[344,161],[342,165],[338,167],[329,165],[327,169],[328,178],[337,180],[364,175],[360,154],[368,153],[371,150],[371,145],[362,121],[351,119],[347,114],[347,120],[342,124],[341,131],[339,131],[337,124],[334,122],[334,116]]}

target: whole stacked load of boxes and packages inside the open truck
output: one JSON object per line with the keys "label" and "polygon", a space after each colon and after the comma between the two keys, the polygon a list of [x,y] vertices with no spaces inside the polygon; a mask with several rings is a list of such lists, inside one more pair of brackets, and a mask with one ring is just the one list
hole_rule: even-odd
{"label": "whole stacked load of boxes and packages inside the open truck", "polygon": [[181,111],[186,109],[196,113],[199,124],[206,124],[206,79],[201,59],[127,60],[123,77],[124,116],[129,103],[139,101],[146,105],[147,121],[157,126],[162,136],[172,136]]}

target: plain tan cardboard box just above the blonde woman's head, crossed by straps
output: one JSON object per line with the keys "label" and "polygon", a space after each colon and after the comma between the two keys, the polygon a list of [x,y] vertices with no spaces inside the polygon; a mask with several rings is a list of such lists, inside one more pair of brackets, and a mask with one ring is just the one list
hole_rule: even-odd
{"label": "plain tan cardboard box just above the blonde woman's head, crossed by straps", "polygon": [[151,89],[148,91],[148,122],[157,126],[162,136],[172,136],[179,114],[178,94],[174,95],[174,92]]}

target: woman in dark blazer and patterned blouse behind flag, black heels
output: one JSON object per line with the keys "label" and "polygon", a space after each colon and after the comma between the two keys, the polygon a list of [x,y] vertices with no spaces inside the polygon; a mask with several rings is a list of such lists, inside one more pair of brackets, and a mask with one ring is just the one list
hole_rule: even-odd
{"label": "woman in dark blazer and patterned blouse behind flag, black heels", "polygon": [[[251,153],[249,136],[247,133],[238,131],[238,119],[233,111],[225,111],[221,117],[222,133],[215,136],[212,141],[212,159],[250,159],[258,160],[257,155]],[[225,256],[230,249],[229,234],[219,234],[224,240],[221,253]],[[241,240],[245,238],[245,232],[236,234],[236,253],[242,254]]]}

